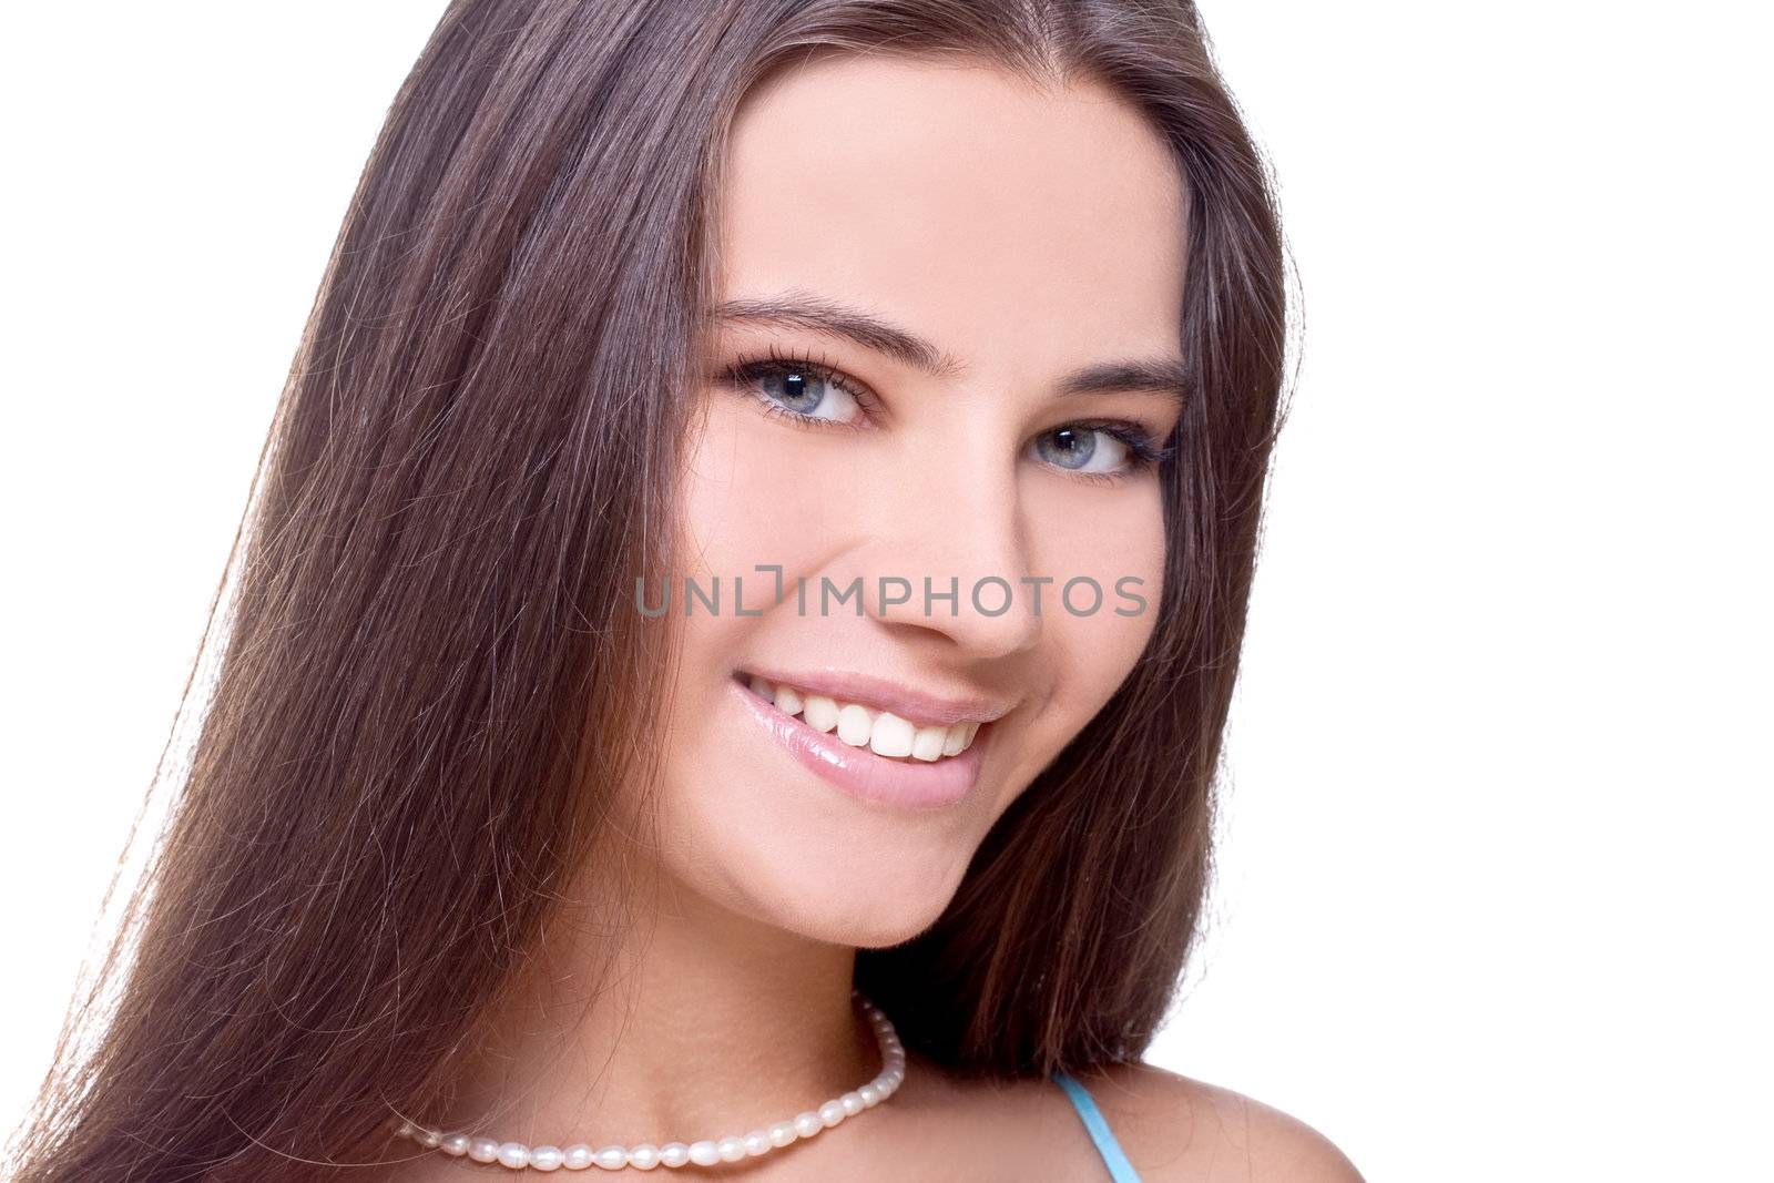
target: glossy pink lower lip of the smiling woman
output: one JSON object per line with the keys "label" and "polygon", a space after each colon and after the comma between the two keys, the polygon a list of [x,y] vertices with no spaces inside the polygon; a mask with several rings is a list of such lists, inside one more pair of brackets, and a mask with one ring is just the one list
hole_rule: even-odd
{"label": "glossy pink lower lip of the smiling woman", "polygon": [[958,756],[946,756],[935,763],[889,759],[866,747],[850,747],[836,734],[816,731],[795,715],[784,715],[738,679],[727,681],[752,718],[763,724],[789,756],[852,796],[898,809],[942,809],[967,796],[979,780],[979,761],[992,724],[983,725],[972,745]]}

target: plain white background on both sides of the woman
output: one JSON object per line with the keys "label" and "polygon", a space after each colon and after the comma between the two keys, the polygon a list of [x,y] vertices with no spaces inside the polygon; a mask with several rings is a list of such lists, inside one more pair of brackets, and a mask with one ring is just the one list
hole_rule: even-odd
{"label": "plain white background on both sides of the woman", "polygon": [[[1205,4],[1306,332],[1150,1059],[1377,1183],[1770,1178],[1770,28],[1735,7]],[[5,1124],[440,12],[9,14]]]}

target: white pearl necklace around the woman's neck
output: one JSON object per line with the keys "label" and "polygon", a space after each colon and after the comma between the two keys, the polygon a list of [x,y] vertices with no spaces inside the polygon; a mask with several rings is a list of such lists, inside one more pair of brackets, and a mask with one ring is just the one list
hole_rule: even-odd
{"label": "white pearl necklace around the woman's neck", "polygon": [[454,1155],[456,1158],[468,1156],[474,1162],[497,1162],[513,1171],[522,1171],[523,1167],[534,1167],[536,1171],[559,1171],[562,1167],[568,1171],[584,1171],[585,1167],[601,1167],[605,1171],[639,1167],[640,1171],[651,1171],[662,1165],[681,1167],[694,1162],[699,1167],[711,1167],[718,1162],[756,1158],[798,1139],[811,1139],[814,1133],[836,1126],[844,1117],[855,1117],[864,1109],[875,1109],[892,1096],[899,1089],[899,1082],[905,1080],[905,1046],[899,1043],[899,1032],[894,1030],[892,1020],[869,1002],[860,990],[852,990],[850,999],[862,1007],[862,1013],[867,1015],[869,1023],[875,1027],[875,1045],[882,1054],[880,1073],[852,1093],[834,1096],[818,1109],[809,1109],[789,1121],[752,1130],[745,1137],[706,1139],[690,1144],[667,1142],[665,1146],[642,1142],[635,1148],[605,1146],[594,1151],[584,1142],[568,1146],[566,1149],[559,1146],[525,1146],[523,1142],[500,1142],[498,1139],[470,1137],[461,1132],[433,1130],[410,1121],[401,1121],[396,1133],[413,1139],[420,1146]]}

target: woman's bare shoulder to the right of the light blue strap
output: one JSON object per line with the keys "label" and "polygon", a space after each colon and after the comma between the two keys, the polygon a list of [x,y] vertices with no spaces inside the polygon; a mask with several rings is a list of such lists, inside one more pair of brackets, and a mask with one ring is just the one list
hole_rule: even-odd
{"label": "woman's bare shoulder to the right of the light blue strap", "polygon": [[1299,1117],[1150,1064],[1077,1073],[1146,1183],[1364,1183]]}

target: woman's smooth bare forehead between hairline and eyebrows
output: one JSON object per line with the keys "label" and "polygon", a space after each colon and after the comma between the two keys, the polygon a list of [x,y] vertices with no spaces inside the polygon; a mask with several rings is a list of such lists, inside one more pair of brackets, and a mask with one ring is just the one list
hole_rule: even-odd
{"label": "woman's smooth bare forehead between hairline and eyebrows", "polygon": [[969,371],[1174,353],[1185,202],[1157,131],[1096,85],[823,59],[738,112],[720,296],[855,303]]}

